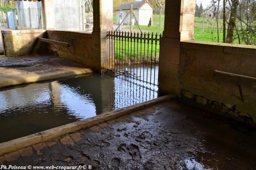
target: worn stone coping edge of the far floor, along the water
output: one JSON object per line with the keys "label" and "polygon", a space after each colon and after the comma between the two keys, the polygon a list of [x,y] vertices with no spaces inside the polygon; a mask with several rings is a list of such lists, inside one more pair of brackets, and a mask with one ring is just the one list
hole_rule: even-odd
{"label": "worn stone coping edge of the far floor, along the water", "polygon": [[83,75],[83,74],[90,74],[90,73],[93,73],[92,69],[84,68],[84,69],[73,70],[73,71],[63,71],[63,72],[50,73],[50,74],[44,74],[44,75],[37,75],[29,78],[10,79],[7,81],[0,82],[0,88],[7,87],[7,86],[14,86],[18,84],[35,83],[35,82],[41,82],[45,80],[59,79],[59,78],[64,78],[68,76]]}

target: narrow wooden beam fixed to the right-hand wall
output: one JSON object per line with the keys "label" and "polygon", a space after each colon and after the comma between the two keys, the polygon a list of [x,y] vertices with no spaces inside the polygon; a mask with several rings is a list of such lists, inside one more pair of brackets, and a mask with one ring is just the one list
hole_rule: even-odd
{"label": "narrow wooden beam fixed to the right-hand wall", "polygon": [[249,86],[249,87],[256,87],[256,78],[239,75],[239,74],[232,74],[229,72],[217,71],[214,70],[214,75],[217,78],[224,79],[226,82],[231,82],[237,85]]}

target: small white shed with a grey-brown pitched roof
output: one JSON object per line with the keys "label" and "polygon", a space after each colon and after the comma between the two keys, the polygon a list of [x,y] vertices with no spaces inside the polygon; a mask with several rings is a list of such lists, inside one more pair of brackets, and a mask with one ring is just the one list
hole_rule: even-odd
{"label": "small white shed with a grey-brown pitched roof", "polygon": [[[131,3],[123,3],[118,8],[117,11],[117,23],[120,24],[125,16],[131,11],[131,5],[133,5],[133,11],[138,20],[139,25],[148,25],[151,18],[153,25],[153,10],[154,7],[148,2],[148,0],[136,1]],[[132,19],[132,25],[135,25],[135,19]],[[130,25],[130,15],[124,20],[122,25]]]}

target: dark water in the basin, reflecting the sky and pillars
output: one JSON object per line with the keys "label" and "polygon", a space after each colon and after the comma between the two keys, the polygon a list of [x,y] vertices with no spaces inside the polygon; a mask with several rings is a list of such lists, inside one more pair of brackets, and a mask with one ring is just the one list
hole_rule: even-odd
{"label": "dark water in the basin, reflecting the sky and pillars", "polygon": [[0,143],[157,98],[123,76],[91,74],[0,91]]}

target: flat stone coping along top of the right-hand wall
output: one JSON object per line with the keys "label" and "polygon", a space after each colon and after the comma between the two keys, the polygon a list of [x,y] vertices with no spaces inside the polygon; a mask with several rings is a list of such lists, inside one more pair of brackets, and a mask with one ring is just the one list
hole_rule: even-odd
{"label": "flat stone coping along top of the right-hand wall", "polygon": [[188,40],[188,41],[181,41],[181,47],[225,52],[225,53],[231,53],[231,54],[256,56],[256,46],[241,45],[241,44],[226,44],[226,43],[214,43],[214,42]]}

